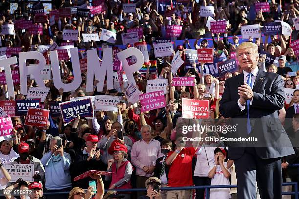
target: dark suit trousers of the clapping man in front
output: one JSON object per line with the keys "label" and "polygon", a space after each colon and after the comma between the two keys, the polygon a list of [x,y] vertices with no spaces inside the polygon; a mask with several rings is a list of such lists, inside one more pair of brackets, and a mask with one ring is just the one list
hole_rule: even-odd
{"label": "dark suit trousers of the clapping man in front", "polygon": [[246,148],[243,156],[235,159],[238,180],[238,199],[256,199],[256,181],[261,199],[281,199],[281,159],[261,159],[255,148]]}

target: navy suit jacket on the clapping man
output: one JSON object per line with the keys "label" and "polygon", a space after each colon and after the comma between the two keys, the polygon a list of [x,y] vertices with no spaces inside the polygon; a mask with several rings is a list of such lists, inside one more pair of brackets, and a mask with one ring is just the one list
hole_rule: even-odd
{"label": "navy suit jacket on the clapping man", "polygon": [[253,136],[258,142],[228,143],[229,159],[238,159],[246,147],[254,147],[260,158],[278,158],[294,153],[291,142],[278,119],[278,110],[284,105],[285,94],[281,77],[276,73],[259,70],[253,85],[253,100],[249,116],[252,131],[247,134],[247,106],[243,111],[238,106],[238,87],[244,83],[241,73],[225,81],[225,89],[220,100],[219,111],[225,118],[238,123],[237,132],[228,137],[246,138]]}

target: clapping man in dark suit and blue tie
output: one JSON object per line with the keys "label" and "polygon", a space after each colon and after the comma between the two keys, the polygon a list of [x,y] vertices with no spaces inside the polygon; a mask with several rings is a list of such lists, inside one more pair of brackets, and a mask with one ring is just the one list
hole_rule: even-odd
{"label": "clapping man in dark suit and blue tie", "polygon": [[[238,199],[281,199],[281,157],[294,153],[278,118],[284,104],[281,77],[257,67],[258,47],[244,42],[237,48],[243,73],[225,81],[219,111],[237,122],[229,137],[257,138],[257,142],[229,143],[229,159],[235,162]],[[246,83],[245,83],[246,82]]]}

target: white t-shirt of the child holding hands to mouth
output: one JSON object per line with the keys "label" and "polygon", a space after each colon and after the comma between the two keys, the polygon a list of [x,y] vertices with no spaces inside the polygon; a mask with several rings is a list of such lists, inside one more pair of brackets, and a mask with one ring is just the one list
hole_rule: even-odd
{"label": "white t-shirt of the child holding hands to mouth", "polygon": [[[226,162],[223,163],[226,168]],[[213,169],[214,164],[210,165],[210,171]],[[227,169],[231,173],[231,169]],[[230,181],[228,178],[225,178],[220,165],[217,165],[215,175],[211,179],[212,185],[229,185]],[[210,189],[210,198],[211,199],[230,199],[230,188],[218,188],[218,189]]]}

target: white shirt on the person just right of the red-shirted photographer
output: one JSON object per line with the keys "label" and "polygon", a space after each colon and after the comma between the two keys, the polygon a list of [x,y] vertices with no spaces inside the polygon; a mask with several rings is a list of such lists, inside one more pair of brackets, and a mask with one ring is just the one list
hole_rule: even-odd
{"label": "white shirt on the person just right of the red-shirted photographer", "polygon": [[200,176],[200,177],[209,176],[209,171],[210,171],[209,165],[214,166],[215,164],[215,155],[214,155],[215,148],[216,147],[201,146],[201,148],[196,152],[197,160],[196,160],[196,166],[194,170],[194,176]]}

